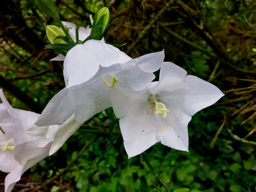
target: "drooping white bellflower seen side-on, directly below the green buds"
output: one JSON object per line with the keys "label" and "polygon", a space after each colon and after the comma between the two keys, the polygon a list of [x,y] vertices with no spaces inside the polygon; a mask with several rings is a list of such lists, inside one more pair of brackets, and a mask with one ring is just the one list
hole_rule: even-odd
{"label": "drooping white bellflower seen side-on, directly below the green buds", "polygon": [[76,45],[64,60],[66,88],[50,100],[36,125],[60,125],[73,114],[78,123],[84,123],[111,106],[110,87],[144,89],[163,60],[164,52],[132,59],[99,40]]}

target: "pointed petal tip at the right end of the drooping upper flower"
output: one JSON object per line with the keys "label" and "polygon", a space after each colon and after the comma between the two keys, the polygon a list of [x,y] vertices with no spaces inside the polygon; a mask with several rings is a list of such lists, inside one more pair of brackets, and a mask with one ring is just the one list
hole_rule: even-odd
{"label": "pointed petal tip at the right end of the drooping upper flower", "polygon": [[150,53],[135,59],[138,67],[145,72],[155,72],[160,69],[164,62],[164,51]]}

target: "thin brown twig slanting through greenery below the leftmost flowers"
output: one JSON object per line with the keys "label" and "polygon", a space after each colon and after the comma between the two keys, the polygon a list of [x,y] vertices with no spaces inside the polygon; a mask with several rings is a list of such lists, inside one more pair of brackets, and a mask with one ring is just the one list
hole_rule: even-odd
{"label": "thin brown twig slanting through greenery below the leftmost flowers", "polygon": [[92,144],[92,142],[97,138],[97,136],[95,136],[94,138],[92,138],[92,140],[90,140],[88,143],[86,143],[84,145],[84,147],[80,150],[80,152],[76,155],[76,157],[70,161],[68,163],[68,165],[63,168],[60,172],[58,172],[55,176],[53,176],[52,178],[46,180],[43,184],[41,184],[40,186],[37,186],[36,188],[34,188],[31,192],[37,192],[40,188],[50,184],[51,182],[53,182],[54,180],[56,180],[59,176],[61,176],[62,174],[64,174],[64,172],[66,172],[70,166],[72,166],[74,164],[74,162],[82,155],[82,153],[88,148],[88,146],[90,146],[90,144]]}

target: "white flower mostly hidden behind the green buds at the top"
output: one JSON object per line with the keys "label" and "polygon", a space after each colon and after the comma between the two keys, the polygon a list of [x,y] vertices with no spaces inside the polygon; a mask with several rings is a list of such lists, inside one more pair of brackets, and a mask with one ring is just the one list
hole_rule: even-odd
{"label": "white flower mostly hidden behind the green buds at the top", "polygon": [[[90,20],[91,22],[93,23],[93,20],[91,18],[91,15],[90,15]],[[67,26],[68,28],[70,28],[68,30],[68,33],[70,34],[71,38],[74,40],[74,42],[76,42],[76,25],[73,24],[73,23],[70,23],[70,22],[67,22],[67,21],[62,21],[62,24],[64,26]],[[87,26],[87,28],[84,28],[84,27],[79,27],[78,29],[78,39],[83,41],[85,40],[91,33],[91,28],[90,26]],[[104,38],[102,38],[102,41],[104,41]],[[59,54],[58,56],[52,58],[50,61],[64,61],[65,59],[65,56],[62,55],[62,54]]]}

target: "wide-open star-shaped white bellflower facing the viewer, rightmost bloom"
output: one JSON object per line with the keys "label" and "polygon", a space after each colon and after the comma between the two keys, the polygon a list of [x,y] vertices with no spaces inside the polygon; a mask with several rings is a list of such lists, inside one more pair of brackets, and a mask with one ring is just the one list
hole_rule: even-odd
{"label": "wide-open star-shaped white bellflower facing the viewer, rightmost bloom", "polygon": [[187,76],[186,70],[170,62],[164,62],[161,67],[159,82],[152,82],[145,90],[114,88],[112,104],[120,118],[128,158],[156,142],[188,151],[191,116],[223,95],[213,84]]}

